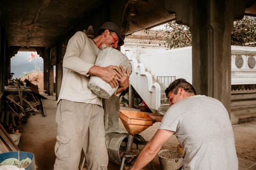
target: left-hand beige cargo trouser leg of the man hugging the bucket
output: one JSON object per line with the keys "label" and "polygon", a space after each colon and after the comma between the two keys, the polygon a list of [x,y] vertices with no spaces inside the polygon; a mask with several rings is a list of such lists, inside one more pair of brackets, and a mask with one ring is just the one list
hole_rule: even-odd
{"label": "left-hand beige cargo trouser leg of the man hugging the bucket", "polygon": [[68,100],[61,100],[58,104],[54,170],[78,170],[91,118],[90,107],[90,104]]}

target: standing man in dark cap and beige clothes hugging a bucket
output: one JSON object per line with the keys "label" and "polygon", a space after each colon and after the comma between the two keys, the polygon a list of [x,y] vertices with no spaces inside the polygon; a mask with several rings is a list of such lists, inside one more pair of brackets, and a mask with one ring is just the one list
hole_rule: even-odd
{"label": "standing man in dark cap and beige clothes hugging a bucket", "polygon": [[102,99],[87,84],[90,75],[101,77],[119,94],[129,85],[128,68],[121,65],[94,65],[102,45],[117,48],[124,44],[120,28],[107,22],[94,39],[78,31],[70,38],[63,59],[65,68],[56,113],[57,142],[54,170],[78,170],[84,150],[88,170],[107,170],[108,152],[105,144]]}

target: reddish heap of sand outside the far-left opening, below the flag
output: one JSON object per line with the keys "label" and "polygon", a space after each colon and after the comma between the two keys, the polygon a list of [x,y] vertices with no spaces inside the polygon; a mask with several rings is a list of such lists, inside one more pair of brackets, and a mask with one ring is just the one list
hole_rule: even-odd
{"label": "reddish heap of sand outside the far-left opening, below the flag", "polygon": [[25,79],[28,79],[34,85],[38,85],[39,92],[44,92],[44,72],[35,71],[20,78],[21,81],[25,81]]}

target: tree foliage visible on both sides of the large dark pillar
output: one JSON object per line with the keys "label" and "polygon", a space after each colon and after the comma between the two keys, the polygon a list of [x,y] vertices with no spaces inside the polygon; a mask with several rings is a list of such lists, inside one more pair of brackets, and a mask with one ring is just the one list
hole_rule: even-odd
{"label": "tree foliage visible on both sides of the large dark pillar", "polygon": [[[188,26],[179,25],[175,21],[166,23],[164,31],[167,41],[166,46],[169,49],[181,48],[192,45],[192,35]],[[159,32],[160,32],[159,31]],[[145,33],[150,34],[150,30],[145,30]],[[154,33],[155,36],[159,35]],[[235,21],[231,32],[231,45],[250,45],[256,46],[256,18],[244,16],[243,19]]]}

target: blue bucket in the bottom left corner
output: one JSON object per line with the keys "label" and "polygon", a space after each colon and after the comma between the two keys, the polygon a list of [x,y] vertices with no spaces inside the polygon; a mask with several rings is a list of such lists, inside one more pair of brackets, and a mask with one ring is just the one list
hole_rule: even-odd
{"label": "blue bucket in the bottom left corner", "polygon": [[[6,152],[6,153],[0,153],[0,163],[6,159],[9,158],[16,158],[18,159],[18,151],[13,152]],[[32,162],[25,167],[25,170],[35,170],[35,156],[33,153],[29,152],[21,152],[20,151],[20,160],[30,158]]]}

